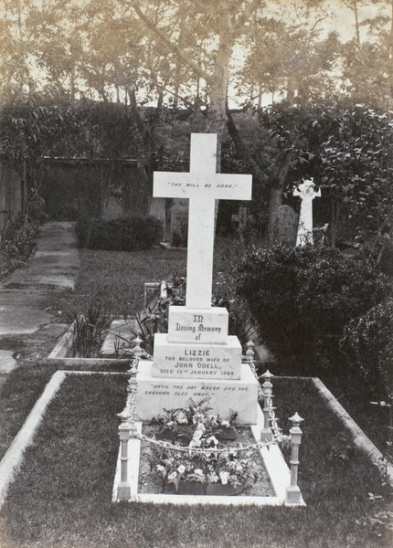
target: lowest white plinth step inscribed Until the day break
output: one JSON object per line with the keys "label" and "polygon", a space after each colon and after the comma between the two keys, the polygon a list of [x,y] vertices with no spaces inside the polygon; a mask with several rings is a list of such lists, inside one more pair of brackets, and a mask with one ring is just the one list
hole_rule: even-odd
{"label": "lowest white plinth step inscribed Until the day break", "polygon": [[153,363],[139,362],[136,413],[140,420],[151,420],[163,415],[164,409],[186,407],[190,398],[200,401],[208,398],[212,415],[228,418],[230,410],[238,412],[239,423],[257,422],[259,383],[249,364],[241,364],[240,379],[154,378]]}

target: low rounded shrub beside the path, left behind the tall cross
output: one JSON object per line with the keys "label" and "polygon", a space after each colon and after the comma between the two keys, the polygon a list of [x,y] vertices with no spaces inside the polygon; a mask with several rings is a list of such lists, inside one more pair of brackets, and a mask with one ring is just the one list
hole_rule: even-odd
{"label": "low rounded shrub beside the path, left behind the tall cross", "polygon": [[154,216],[133,216],[112,221],[82,217],[76,231],[81,246],[107,251],[149,249],[163,237],[162,223]]}

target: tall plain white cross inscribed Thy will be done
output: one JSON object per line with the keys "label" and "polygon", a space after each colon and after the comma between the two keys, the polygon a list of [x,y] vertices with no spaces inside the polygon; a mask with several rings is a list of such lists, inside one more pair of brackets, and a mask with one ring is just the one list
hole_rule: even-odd
{"label": "tall plain white cross inscribed Thy will be done", "polygon": [[252,176],[217,174],[216,156],[215,133],[192,133],[189,173],[154,172],[154,197],[189,199],[187,308],[211,307],[216,199],[251,199]]}

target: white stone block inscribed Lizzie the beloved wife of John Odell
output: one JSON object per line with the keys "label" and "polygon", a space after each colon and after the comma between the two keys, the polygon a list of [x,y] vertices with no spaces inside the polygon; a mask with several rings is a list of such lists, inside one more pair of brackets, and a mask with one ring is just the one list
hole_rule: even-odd
{"label": "white stone block inscribed Lizzie the beloved wife of John Odell", "polygon": [[226,344],[168,342],[166,333],[154,336],[153,375],[239,379],[241,345],[228,336]]}

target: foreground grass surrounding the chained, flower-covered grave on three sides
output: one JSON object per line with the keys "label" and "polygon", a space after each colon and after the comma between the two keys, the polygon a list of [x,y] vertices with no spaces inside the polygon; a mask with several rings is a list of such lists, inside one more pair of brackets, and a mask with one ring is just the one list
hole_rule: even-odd
{"label": "foreground grass surrounding the chained, flower-covered grave on three sides", "polygon": [[[390,546],[387,493],[309,381],[276,379],[277,415],[303,423],[299,482],[307,508],[177,508],[111,502],[123,376],[64,381],[2,510],[2,546]],[[287,431],[286,420],[281,421]],[[289,455],[286,455],[289,458]],[[374,496],[371,497],[370,493]],[[383,497],[383,498],[378,498]]]}

